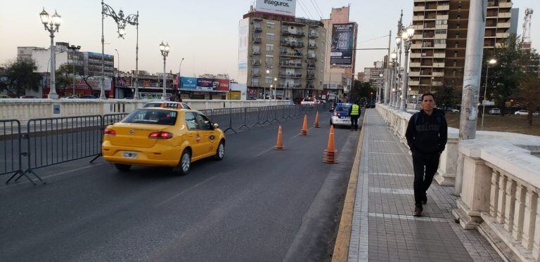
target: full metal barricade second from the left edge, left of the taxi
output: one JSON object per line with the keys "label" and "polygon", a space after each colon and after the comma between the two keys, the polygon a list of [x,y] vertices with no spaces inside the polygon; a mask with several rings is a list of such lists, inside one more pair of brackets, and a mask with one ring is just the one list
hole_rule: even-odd
{"label": "full metal barricade second from the left edge, left of the taxi", "polygon": [[102,129],[101,115],[30,119],[25,173],[39,178],[35,169],[99,155]]}

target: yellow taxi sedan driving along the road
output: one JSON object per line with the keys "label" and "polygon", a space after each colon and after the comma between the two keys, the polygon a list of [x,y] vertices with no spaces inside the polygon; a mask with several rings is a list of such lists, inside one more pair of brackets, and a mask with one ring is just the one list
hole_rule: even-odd
{"label": "yellow taxi sedan driving along the road", "polygon": [[120,171],[140,164],[171,166],[185,175],[199,159],[223,159],[225,134],[198,111],[162,103],[135,110],[107,126],[101,152]]}

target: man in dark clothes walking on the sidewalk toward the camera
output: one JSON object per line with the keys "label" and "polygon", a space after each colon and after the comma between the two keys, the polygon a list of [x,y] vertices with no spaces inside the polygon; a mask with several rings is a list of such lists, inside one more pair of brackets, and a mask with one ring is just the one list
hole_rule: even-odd
{"label": "man in dark clothes walking on the sidewalk toward the camera", "polygon": [[421,106],[422,110],[409,119],[405,133],[413,153],[414,216],[421,216],[422,204],[428,202],[426,192],[439,167],[448,132],[444,111],[435,108],[435,97],[431,93],[422,95]]}

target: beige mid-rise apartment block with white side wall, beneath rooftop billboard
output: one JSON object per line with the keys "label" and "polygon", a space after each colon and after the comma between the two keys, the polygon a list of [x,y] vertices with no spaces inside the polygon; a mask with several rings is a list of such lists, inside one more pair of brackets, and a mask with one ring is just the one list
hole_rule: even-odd
{"label": "beige mid-rise apartment block with white side wall, beneath rooftop billboard", "polygon": [[245,81],[250,97],[319,96],[326,48],[320,21],[252,9],[239,30],[238,81]]}

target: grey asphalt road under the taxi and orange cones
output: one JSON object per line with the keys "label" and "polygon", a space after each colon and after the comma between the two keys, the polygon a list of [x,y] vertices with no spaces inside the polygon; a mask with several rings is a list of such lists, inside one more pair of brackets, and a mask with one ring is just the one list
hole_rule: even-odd
{"label": "grey asphalt road under the taxi and orange cones", "polygon": [[323,163],[329,116],[307,137],[302,117],[281,123],[285,151],[278,124],[229,134],[188,176],[84,159],[1,185],[0,261],[327,260],[359,137],[336,129],[339,163]]}

